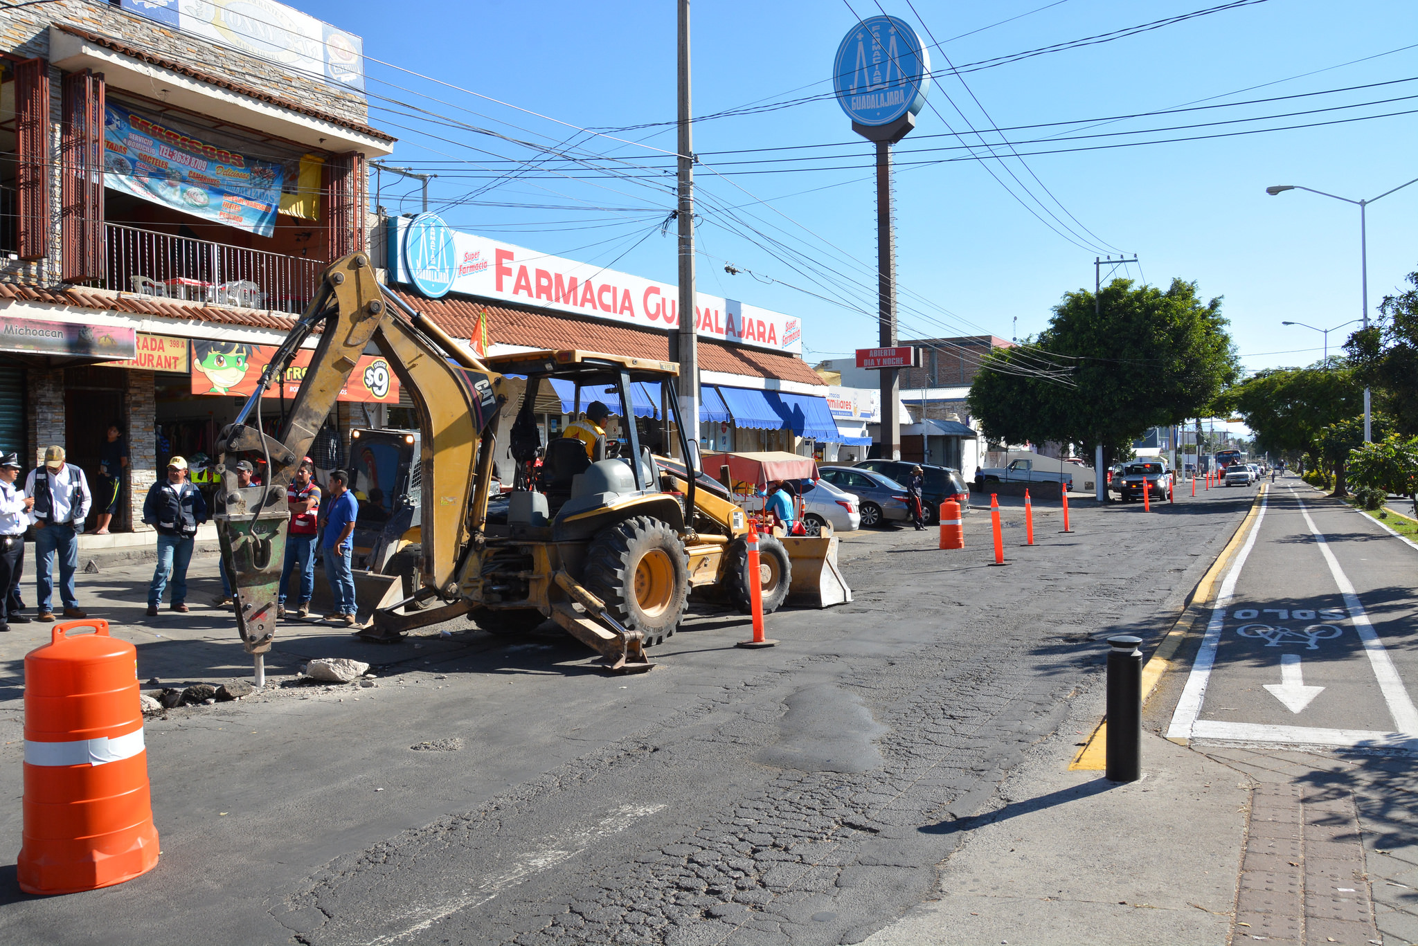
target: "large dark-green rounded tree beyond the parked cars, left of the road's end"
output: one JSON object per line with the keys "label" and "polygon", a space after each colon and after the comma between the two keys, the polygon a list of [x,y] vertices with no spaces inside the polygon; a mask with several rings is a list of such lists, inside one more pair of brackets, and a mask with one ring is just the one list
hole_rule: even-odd
{"label": "large dark-green rounded tree beyond the parked cars, left of the road's end", "polygon": [[1037,339],[984,359],[970,413],[990,440],[1102,444],[1112,462],[1149,427],[1210,413],[1239,373],[1225,326],[1195,282],[1068,292]]}

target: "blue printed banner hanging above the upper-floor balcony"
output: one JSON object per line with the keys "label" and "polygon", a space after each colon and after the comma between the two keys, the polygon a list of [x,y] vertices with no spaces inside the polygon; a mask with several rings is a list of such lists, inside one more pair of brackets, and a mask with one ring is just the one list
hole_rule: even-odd
{"label": "blue printed banner hanging above the upper-floor balcony", "polygon": [[108,104],[104,186],[193,217],[275,233],[285,169],[217,148]]}

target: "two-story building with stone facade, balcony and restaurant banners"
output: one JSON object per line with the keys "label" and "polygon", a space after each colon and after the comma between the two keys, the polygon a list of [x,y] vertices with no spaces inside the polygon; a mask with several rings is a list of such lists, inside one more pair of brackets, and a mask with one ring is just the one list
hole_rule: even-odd
{"label": "two-story building with stone facade, balcony and restaurant banners", "polygon": [[[279,3],[0,9],[0,450],[61,444],[96,481],[116,424],[113,528],[142,529],[160,464],[206,475],[326,261],[364,248],[366,162],[393,143],[360,38]],[[398,393],[342,399],[332,427]]]}

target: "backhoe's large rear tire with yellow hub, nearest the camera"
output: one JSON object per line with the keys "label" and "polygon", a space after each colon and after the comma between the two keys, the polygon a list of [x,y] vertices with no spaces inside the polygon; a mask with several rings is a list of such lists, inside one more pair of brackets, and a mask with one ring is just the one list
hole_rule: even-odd
{"label": "backhoe's large rear tire with yellow hub, nearest the camera", "polygon": [[651,647],[672,637],[689,597],[689,555],[659,519],[634,516],[603,529],[586,552],[581,584]]}

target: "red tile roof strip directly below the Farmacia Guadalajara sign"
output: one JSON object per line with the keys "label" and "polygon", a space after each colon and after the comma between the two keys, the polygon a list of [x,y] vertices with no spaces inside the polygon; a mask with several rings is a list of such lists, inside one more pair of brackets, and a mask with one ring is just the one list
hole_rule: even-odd
{"label": "red tile roof strip directly below the Farmacia Guadalajara sign", "polygon": [[[664,332],[632,329],[610,322],[581,321],[540,309],[512,308],[452,296],[424,299],[408,292],[397,289],[396,292],[442,326],[445,332],[461,339],[471,339],[478,333],[479,316],[486,312],[488,338],[493,343],[550,349],[574,347],[658,360],[669,357],[669,338]],[[800,357],[709,339],[699,340],[699,367],[705,372],[822,384],[817,372]]]}

